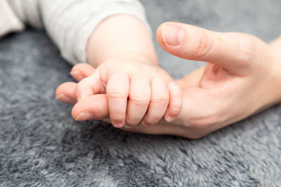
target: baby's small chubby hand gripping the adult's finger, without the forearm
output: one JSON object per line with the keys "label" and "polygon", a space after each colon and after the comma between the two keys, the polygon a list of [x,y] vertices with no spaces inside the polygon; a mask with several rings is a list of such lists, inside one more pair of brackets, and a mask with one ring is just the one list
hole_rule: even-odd
{"label": "baby's small chubby hand gripping the adult's finger, without the forearm", "polygon": [[[78,102],[106,93],[110,120],[115,127],[125,123],[149,126],[162,118],[171,122],[181,111],[181,89],[166,71],[148,62],[147,57],[137,53],[115,55],[78,83]],[[83,108],[79,111],[81,115],[76,120],[91,119],[84,115],[87,111]]]}

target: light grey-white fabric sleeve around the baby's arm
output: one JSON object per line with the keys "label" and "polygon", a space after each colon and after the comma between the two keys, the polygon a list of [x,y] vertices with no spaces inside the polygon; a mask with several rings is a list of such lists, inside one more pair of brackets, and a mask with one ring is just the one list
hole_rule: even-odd
{"label": "light grey-white fabric sleeve around the baby's arm", "polygon": [[89,36],[108,16],[131,14],[148,26],[145,10],[137,0],[8,0],[8,3],[22,22],[36,28],[44,25],[60,53],[72,64],[86,62]]}

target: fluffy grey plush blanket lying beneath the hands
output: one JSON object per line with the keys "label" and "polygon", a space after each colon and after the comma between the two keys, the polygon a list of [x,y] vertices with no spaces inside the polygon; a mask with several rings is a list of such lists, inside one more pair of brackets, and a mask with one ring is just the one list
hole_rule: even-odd
{"label": "fluffy grey plush blanket lying beneath the hands", "polygon": [[[279,0],[141,2],[153,32],[176,21],[264,41],[281,34]],[[174,78],[204,64],[155,46]],[[280,105],[199,140],[122,132],[74,122],[55,100],[70,69],[44,32],[1,39],[0,186],[281,186]]]}

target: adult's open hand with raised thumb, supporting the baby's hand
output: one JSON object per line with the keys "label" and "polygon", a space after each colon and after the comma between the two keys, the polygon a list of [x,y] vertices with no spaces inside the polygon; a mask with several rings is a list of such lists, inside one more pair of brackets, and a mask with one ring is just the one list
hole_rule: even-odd
{"label": "adult's open hand with raised thumb, supporting the baby's hand", "polygon": [[[160,25],[157,39],[172,55],[207,64],[176,81],[183,109],[172,123],[162,120],[124,130],[200,138],[280,102],[280,42],[267,44],[249,34],[211,32],[176,22]],[[64,86],[68,91],[60,86],[57,95],[65,92],[74,101],[70,92],[75,85]],[[107,118],[107,104],[105,95],[93,95],[75,104],[72,116],[84,107],[96,116],[89,119]]]}

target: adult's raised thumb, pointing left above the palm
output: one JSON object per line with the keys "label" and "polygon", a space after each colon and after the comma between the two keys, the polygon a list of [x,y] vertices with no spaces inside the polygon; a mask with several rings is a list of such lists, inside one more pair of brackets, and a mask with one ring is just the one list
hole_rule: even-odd
{"label": "adult's raised thumb, pointing left above the palm", "polygon": [[157,29],[157,40],[167,52],[188,60],[210,62],[235,74],[245,71],[253,59],[254,36],[212,32],[179,22],[165,22]]}

